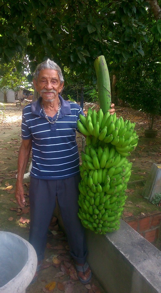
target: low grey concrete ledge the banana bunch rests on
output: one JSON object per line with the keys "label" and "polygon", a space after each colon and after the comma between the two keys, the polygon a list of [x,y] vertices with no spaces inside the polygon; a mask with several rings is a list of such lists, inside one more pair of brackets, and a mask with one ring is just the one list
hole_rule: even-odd
{"label": "low grey concrete ledge the banana bunch rests on", "polygon": [[106,293],[161,293],[161,251],[127,223],[106,235],[86,234],[88,262]]}

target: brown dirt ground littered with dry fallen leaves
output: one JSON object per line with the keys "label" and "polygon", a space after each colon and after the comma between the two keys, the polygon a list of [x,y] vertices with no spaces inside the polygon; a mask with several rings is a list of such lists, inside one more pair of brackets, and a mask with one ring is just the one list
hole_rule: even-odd
{"label": "brown dirt ground littered with dry fallen leaves", "polygon": [[[84,110],[87,111],[89,106],[97,110],[97,105],[89,104],[85,104]],[[22,210],[14,199],[17,158],[21,143],[22,108],[23,106],[8,103],[4,111],[5,117],[0,115],[0,230],[16,233],[28,240],[30,227],[29,179],[24,180],[26,207]],[[115,107],[115,109],[117,117],[123,116],[124,119],[136,122],[135,128],[139,135],[138,147],[129,157],[129,161],[133,162],[133,167],[126,191],[128,198],[123,212],[123,219],[125,219],[132,215],[146,214],[160,209],[142,197],[142,190],[152,163],[161,164],[161,118],[157,117],[154,125],[158,129],[157,137],[148,139],[144,136],[144,129],[148,127],[144,113],[124,107]],[[81,150],[81,140],[81,135],[77,134],[79,150]],[[26,292],[48,292],[45,286],[50,282],[55,282],[53,283],[55,289],[49,292],[103,293],[104,291],[95,276],[92,277],[90,285],[82,285],[77,280],[66,237],[59,229],[58,224],[54,217],[49,227],[43,269],[40,271],[38,280],[35,284],[30,285]]]}

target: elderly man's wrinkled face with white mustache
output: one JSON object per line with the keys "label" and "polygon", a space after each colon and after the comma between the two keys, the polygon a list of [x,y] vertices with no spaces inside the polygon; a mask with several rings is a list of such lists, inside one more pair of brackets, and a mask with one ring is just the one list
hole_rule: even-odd
{"label": "elderly man's wrinkled face with white mustache", "polygon": [[33,83],[42,99],[46,102],[52,102],[55,98],[58,98],[59,92],[63,89],[58,72],[53,69],[41,70],[37,81],[33,80]]}

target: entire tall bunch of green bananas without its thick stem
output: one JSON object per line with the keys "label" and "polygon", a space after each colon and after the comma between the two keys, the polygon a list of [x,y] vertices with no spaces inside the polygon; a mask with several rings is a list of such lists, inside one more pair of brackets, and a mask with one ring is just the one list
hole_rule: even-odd
{"label": "entire tall bunch of green bananas without its thick stem", "polygon": [[88,110],[80,115],[78,129],[86,136],[85,153],[81,152],[78,216],[84,227],[105,234],[120,227],[126,200],[125,190],[132,163],[127,156],[135,149],[138,136],[135,123]]}

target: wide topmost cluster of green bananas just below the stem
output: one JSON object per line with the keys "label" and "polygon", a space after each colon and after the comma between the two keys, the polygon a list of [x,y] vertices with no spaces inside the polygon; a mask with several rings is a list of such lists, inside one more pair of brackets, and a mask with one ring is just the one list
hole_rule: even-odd
{"label": "wide topmost cluster of green bananas just below the stem", "polygon": [[87,117],[80,114],[77,121],[79,131],[87,136],[87,144],[96,147],[98,142],[102,147],[111,143],[123,157],[127,157],[138,144],[138,135],[134,131],[135,123],[130,120],[123,121],[117,118],[116,113],[110,115],[109,111],[103,115],[102,109],[88,109]]}

